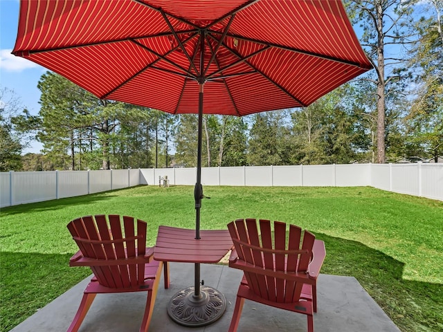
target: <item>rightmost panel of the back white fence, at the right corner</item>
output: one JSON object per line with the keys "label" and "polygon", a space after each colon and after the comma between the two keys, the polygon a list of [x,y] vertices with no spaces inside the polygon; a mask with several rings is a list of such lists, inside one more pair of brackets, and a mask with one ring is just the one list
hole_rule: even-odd
{"label": "rightmost panel of the back white fence, at the right corner", "polygon": [[335,165],[335,185],[356,187],[371,185],[370,164]]}

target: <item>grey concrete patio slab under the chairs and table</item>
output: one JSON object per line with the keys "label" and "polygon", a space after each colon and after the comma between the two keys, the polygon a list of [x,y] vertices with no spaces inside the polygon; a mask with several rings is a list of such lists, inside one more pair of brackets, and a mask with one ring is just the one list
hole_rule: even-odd
{"label": "grey concrete patio slab under the chairs and table", "polygon": [[[242,272],[228,266],[201,265],[201,277],[205,285],[217,288],[226,297],[226,313],[217,322],[197,328],[180,326],[173,322],[166,311],[172,295],[182,288],[192,286],[194,265],[170,263],[170,288],[163,288],[163,280],[156,297],[150,331],[228,331],[233,315],[235,294],[242,279]],[[163,277],[162,277],[163,279]],[[12,332],[61,332],[66,331],[89,278],[57,297]],[[318,313],[314,314],[316,332],[398,332],[397,326],[364,291],[354,277],[320,275],[318,278]],[[114,332],[138,331],[145,308],[145,293],[97,295],[80,331]],[[246,301],[238,331],[307,331],[305,315],[282,311]]]}

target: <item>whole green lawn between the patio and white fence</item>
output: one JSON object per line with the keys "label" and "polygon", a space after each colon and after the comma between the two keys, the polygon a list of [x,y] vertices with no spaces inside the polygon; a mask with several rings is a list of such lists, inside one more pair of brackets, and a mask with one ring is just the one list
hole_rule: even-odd
{"label": "whole green lawn between the patio and white fence", "polygon": [[[0,215],[0,331],[9,331],[90,274],[69,268],[77,251],[66,224],[125,214],[194,228],[193,187],[134,187],[17,205]],[[205,187],[201,228],[237,218],[300,225],[325,241],[322,273],[354,276],[401,331],[443,331],[443,202],[371,187]]]}

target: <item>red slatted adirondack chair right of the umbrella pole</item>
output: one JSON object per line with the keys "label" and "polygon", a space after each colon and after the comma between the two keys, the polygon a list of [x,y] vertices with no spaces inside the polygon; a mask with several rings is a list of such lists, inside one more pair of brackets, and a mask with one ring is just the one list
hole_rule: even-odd
{"label": "red slatted adirondack chair right of the umbrella pole", "polygon": [[[234,250],[229,266],[244,271],[237,292],[229,331],[237,331],[244,299],[307,315],[307,329],[314,332],[316,280],[325,259],[325,243],[296,225],[255,219],[228,224]],[[300,240],[302,246],[300,248]],[[288,240],[287,240],[288,239]],[[286,244],[288,243],[288,244]]]}

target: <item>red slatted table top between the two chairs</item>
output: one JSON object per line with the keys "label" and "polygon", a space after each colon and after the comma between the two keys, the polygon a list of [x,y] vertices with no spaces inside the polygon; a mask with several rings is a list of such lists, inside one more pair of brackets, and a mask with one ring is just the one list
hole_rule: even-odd
{"label": "red slatted table top between the two chairs", "polygon": [[210,264],[219,262],[233,248],[228,230],[200,230],[200,238],[195,239],[195,230],[160,226],[154,259]]}

